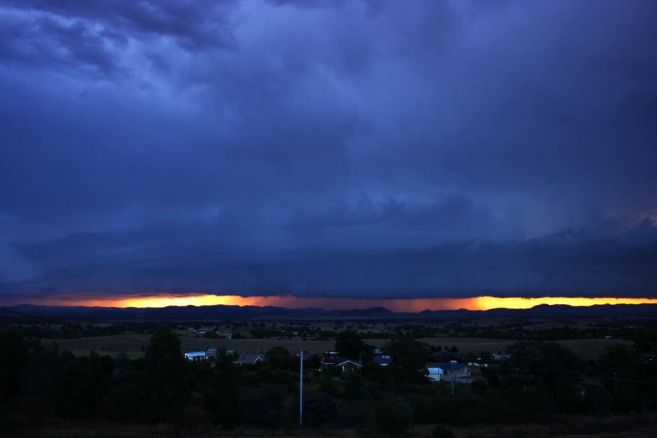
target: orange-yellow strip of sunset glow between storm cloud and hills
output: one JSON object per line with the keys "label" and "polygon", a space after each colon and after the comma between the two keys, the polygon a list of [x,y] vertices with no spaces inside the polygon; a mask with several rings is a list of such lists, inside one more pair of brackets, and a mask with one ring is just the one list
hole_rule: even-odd
{"label": "orange-yellow strip of sunset glow between storm cloud and hills", "polygon": [[594,306],[596,304],[657,304],[655,298],[565,297],[541,296],[523,298],[513,296],[477,296],[473,298],[415,298],[415,299],[357,299],[357,298],[306,298],[299,296],[237,296],[237,295],[153,295],[130,298],[77,297],[47,299],[32,302],[49,306],[103,306],[103,307],[165,307],[165,306],[278,306],[286,308],[318,307],[328,310],[384,307],[395,312],[418,313],[429,310],[485,311],[492,308],[532,308],[539,304],[567,304]]}

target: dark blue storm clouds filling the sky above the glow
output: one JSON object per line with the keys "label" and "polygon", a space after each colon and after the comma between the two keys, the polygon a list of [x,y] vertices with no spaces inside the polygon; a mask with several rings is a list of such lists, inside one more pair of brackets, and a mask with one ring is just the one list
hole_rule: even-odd
{"label": "dark blue storm clouds filling the sky above the glow", "polygon": [[657,296],[655,1],[0,23],[0,301]]}

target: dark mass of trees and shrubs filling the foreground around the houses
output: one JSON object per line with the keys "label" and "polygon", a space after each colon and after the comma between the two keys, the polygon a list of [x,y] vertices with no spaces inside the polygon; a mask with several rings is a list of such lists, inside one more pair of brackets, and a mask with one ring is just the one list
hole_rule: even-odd
{"label": "dark mass of trees and shrubs filling the foreground around the houses", "polygon": [[[257,431],[528,437],[654,426],[657,363],[651,359],[657,340],[651,330],[639,338],[634,348],[609,346],[590,363],[560,344],[523,340],[508,349],[511,358],[505,361],[492,361],[483,351],[475,360],[488,366],[477,367],[476,378],[437,383],[427,380],[426,368],[437,351],[413,334],[390,339],[384,352],[392,363],[382,367],[370,360],[373,347],[366,336],[346,330],[337,334],[336,350],[363,361],[363,367],[343,372],[322,367],[319,356],[304,360],[301,432],[299,357],[284,347],[270,349],[257,365],[237,366],[236,354],[225,349],[214,361],[190,362],[182,356],[180,339],[162,325],[143,358],[95,352],[75,357],[4,327],[0,436],[96,429],[115,431],[102,436]],[[446,350],[459,360],[457,346]]]}

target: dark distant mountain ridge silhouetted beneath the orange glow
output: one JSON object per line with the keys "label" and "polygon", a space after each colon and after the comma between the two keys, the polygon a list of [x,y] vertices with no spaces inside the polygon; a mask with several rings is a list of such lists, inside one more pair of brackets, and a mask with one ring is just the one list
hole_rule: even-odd
{"label": "dark distant mountain ridge silhouetted beneath the orange glow", "polygon": [[[284,308],[275,306],[167,306],[167,307],[85,307],[37,306],[19,304],[8,307],[13,311],[40,317],[79,318],[92,320],[147,319],[147,320],[251,320],[251,319],[435,319],[435,318],[595,318],[641,317],[657,318],[657,304],[602,304],[568,306],[540,304],[527,309],[494,308],[487,311],[425,310],[420,313],[393,312],[383,307],[351,310],[323,308]],[[11,313],[0,313],[7,318]],[[14,315],[15,316],[15,315]]]}

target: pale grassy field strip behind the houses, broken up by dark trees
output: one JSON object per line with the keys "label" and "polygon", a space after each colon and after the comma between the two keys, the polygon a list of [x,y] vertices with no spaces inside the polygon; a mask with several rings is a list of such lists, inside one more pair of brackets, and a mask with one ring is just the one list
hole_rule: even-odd
{"label": "pale grassy field strip behind the houses, broken up by dark trees", "polygon": [[[73,352],[76,356],[89,354],[95,350],[100,354],[116,356],[120,351],[125,351],[131,358],[142,356],[142,346],[145,348],[150,339],[149,334],[123,334],[121,338],[100,336],[85,337],[77,339],[59,339],[57,345],[60,349]],[[332,350],[334,341],[302,341],[300,339],[204,339],[196,337],[180,337],[181,346],[185,350],[207,350],[225,346],[227,349],[235,351],[261,353],[268,351],[273,346],[282,345],[290,351],[298,351],[302,347],[311,353],[322,353],[323,351]],[[456,345],[463,353],[479,354],[482,351],[506,352],[509,345],[515,341],[507,339],[485,339],[485,338],[453,338],[453,337],[433,337],[420,339],[421,342],[434,346],[452,346]],[[368,339],[367,343],[373,346],[381,347],[389,342],[388,339]],[[567,346],[575,353],[579,354],[584,361],[589,359],[596,360],[604,351],[606,346],[612,344],[627,344],[629,341],[618,339],[572,339],[558,341],[560,344]],[[44,340],[44,345],[51,345],[52,341]]]}

